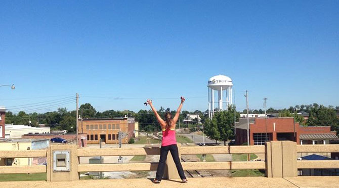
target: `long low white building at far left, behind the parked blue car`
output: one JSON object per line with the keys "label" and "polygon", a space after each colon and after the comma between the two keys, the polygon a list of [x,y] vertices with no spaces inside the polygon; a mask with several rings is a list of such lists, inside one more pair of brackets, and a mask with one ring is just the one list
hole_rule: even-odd
{"label": "long low white building at far left, behind the parked blue car", "polygon": [[5,125],[5,138],[21,138],[24,134],[46,134],[50,133],[50,127],[31,127],[28,125]]}

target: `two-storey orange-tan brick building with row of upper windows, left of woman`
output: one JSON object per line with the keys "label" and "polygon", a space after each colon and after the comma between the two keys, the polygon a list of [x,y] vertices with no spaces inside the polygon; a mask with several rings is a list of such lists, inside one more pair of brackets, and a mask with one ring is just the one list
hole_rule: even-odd
{"label": "two-storey orange-tan brick building with row of upper windows, left of woman", "polygon": [[134,118],[83,119],[78,124],[78,131],[87,133],[88,144],[99,144],[99,139],[106,144],[116,144],[119,131],[124,134],[122,143],[128,143],[134,137]]}

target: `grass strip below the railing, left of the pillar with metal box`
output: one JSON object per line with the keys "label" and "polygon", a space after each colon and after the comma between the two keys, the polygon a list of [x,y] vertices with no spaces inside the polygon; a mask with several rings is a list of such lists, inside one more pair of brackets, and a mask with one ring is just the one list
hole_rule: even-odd
{"label": "grass strip below the railing, left of the pillar with metal box", "polygon": [[0,174],[0,181],[46,181],[46,173]]}

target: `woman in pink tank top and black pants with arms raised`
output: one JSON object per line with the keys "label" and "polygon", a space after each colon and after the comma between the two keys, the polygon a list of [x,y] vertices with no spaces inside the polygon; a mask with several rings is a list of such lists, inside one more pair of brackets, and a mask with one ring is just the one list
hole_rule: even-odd
{"label": "woman in pink tank top and black pants with arms raised", "polygon": [[187,182],[183,167],[180,163],[179,158],[179,152],[177,147],[177,139],[176,139],[176,123],[179,119],[179,114],[181,111],[181,108],[183,107],[183,103],[185,102],[185,98],[181,97],[181,103],[179,105],[179,108],[177,110],[176,115],[174,118],[172,118],[171,112],[165,113],[165,120],[163,120],[157,111],[155,110],[152,101],[147,100],[147,103],[152,108],[152,111],[154,112],[154,115],[156,119],[158,120],[161,130],[162,130],[162,140],[161,140],[161,149],[160,149],[160,160],[158,163],[158,168],[156,170],[156,176],[153,179],[153,183],[160,183],[164,168],[165,168],[165,162],[167,158],[168,151],[171,151],[171,155],[173,157],[174,163],[176,164],[179,176],[183,183]]}

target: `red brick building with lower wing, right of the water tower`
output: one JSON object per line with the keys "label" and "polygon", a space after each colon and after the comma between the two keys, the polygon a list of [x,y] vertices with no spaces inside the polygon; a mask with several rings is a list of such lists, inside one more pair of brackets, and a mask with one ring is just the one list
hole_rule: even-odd
{"label": "red brick building with lower wing, right of the water tower", "polygon": [[[294,123],[292,117],[249,119],[250,145],[264,145],[267,140],[291,140],[297,144],[329,144],[329,140],[333,139],[338,138],[329,126],[304,127]],[[236,123],[235,142],[237,145],[247,142],[246,118],[240,118]]]}

